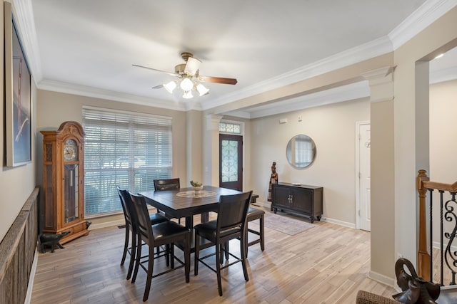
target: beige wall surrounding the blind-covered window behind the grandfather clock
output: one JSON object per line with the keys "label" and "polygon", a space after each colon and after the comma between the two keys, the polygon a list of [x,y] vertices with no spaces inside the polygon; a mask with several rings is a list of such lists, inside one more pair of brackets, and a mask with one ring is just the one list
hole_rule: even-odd
{"label": "beige wall surrounding the blind-covered window behind the grandfather clock", "polygon": [[[41,130],[57,130],[61,122],[67,120],[75,120],[81,122],[83,105],[92,107],[125,110],[130,112],[148,113],[156,115],[166,115],[172,117],[173,125],[173,176],[181,178],[181,184],[189,184],[186,174],[186,112],[166,110],[161,108],[146,107],[143,105],[133,105],[128,103],[119,103],[112,100],[103,100],[98,98],[89,98],[78,95],[65,93],[56,93],[46,90],[38,91],[38,101],[36,110],[36,152],[37,152],[37,170],[38,181],[42,184],[43,171],[43,154],[42,142],[43,137],[39,131]],[[194,153],[198,153],[198,148],[193,148]],[[196,177],[198,178],[198,177]],[[97,226],[104,222],[118,221],[123,219],[123,216],[109,216],[102,219],[91,219],[92,224]]]}

